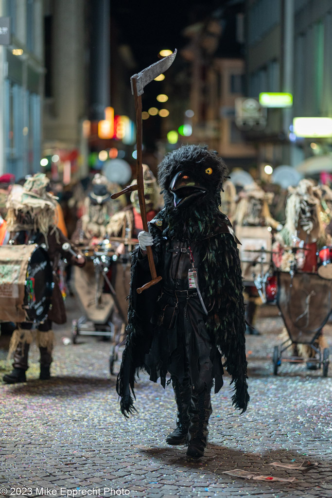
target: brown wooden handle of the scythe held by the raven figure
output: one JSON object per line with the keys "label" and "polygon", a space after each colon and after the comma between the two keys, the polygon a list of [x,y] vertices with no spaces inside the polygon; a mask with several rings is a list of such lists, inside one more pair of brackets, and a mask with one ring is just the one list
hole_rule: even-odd
{"label": "brown wooden handle of the scythe held by the raven figure", "polygon": [[[132,88],[134,92],[135,99],[135,111],[136,111],[136,150],[137,150],[137,160],[136,160],[136,177],[137,177],[137,193],[139,208],[141,211],[141,218],[143,224],[144,232],[148,232],[147,220],[146,220],[146,209],[145,209],[145,199],[144,199],[144,182],[143,182],[143,166],[142,166],[142,96],[137,95],[136,78],[132,77]],[[142,287],[137,289],[138,294],[143,290],[148,289],[152,285],[156,284],[161,280],[162,277],[157,277],[156,268],[153,260],[153,253],[150,246],[146,247],[147,258],[149,261],[149,268],[152,276],[152,280]]]}

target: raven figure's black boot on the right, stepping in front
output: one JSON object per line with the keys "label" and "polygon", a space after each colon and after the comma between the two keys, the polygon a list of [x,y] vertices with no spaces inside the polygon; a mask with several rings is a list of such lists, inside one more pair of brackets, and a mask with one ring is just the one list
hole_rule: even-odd
{"label": "raven figure's black boot on the right, stepping in front", "polygon": [[193,393],[189,408],[189,414],[191,415],[187,449],[189,457],[203,457],[207,446],[208,424],[211,413],[211,387],[206,387],[198,394]]}

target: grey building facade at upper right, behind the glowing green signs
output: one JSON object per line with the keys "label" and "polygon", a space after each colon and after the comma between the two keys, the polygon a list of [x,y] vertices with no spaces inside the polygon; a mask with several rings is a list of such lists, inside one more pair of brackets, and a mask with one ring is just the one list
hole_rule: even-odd
{"label": "grey building facade at upper right, behind the glowing green signs", "polygon": [[327,153],[332,138],[296,136],[296,117],[332,117],[332,1],[247,0],[246,95],[288,92],[290,108],[267,109],[264,130],[246,135],[261,167],[296,166]]}

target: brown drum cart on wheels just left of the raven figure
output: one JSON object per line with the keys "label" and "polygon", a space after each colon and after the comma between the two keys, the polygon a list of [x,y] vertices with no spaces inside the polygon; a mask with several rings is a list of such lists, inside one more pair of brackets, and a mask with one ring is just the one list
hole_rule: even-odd
{"label": "brown drum cart on wheels just left of the raven figure", "polygon": [[[72,321],[71,338],[77,344],[79,336],[99,336],[112,342],[110,373],[118,359],[118,349],[127,325],[126,296],[129,293],[130,274],[126,272],[127,283],[124,293],[120,292],[118,267],[130,269],[129,258],[115,255],[109,240],[94,248],[83,250],[87,264],[82,269],[74,268],[75,288],[85,314]],[[124,277],[124,275],[123,275]],[[115,288],[114,288],[115,287]],[[89,294],[89,298],[87,298]]]}

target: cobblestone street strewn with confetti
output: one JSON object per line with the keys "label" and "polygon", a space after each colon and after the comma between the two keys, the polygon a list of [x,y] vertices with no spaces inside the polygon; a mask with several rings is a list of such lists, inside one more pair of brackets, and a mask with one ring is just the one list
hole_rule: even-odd
{"label": "cobblestone street strewn with confetti", "polygon": [[[0,493],[3,496],[172,497],[332,497],[332,369],[308,371],[283,362],[273,375],[272,354],[281,343],[277,308],[260,311],[260,336],[246,336],[250,403],[239,416],[231,407],[228,377],[212,396],[209,445],[199,460],[184,447],[165,442],[175,427],[171,386],[165,390],[141,375],[138,413],[121,415],[115,375],[109,372],[111,343],[81,337],[65,346],[75,298],[66,301],[68,323],[55,326],[52,378],[38,379],[32,347],[27,382],[0,385]],[[325,327],[332,347],[332,326]],[[0,373],[8,336],[0,338]],[[115,364],[115,372],[118,370]],[[308,472],[273,467],[272,462],[318,463]],[[223,474],[241,469],[293,482],[246,480]],[[6,491],[7,490],[7,491]]]}

